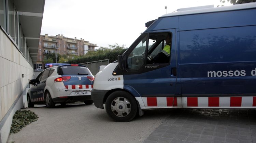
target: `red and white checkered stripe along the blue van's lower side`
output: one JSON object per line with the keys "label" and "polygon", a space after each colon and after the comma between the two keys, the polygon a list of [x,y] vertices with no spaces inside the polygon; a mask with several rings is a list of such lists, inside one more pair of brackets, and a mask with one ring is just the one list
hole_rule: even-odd
{"label": "red and white checkered stripe along the blue van's lower side", "polygon": [[256,108],[256,96],[142,97],[142,100],[145,107]]}

